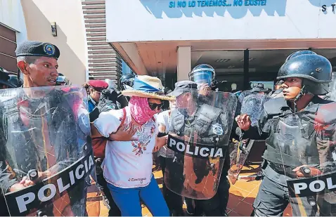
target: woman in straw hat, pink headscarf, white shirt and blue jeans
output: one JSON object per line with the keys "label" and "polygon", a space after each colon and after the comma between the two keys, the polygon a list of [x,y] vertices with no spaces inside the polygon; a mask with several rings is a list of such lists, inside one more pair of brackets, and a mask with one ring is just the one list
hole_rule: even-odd
{"label": "woman in straw hat, pink headscarf, white shirt and blue jeans", "polygon": [[[92,137],[111,138],[102,164],[108,188],[122,216],[142,216],[140,199],[153,216],[169,216],[169,209],[152,173],[153,150],[166,144],[167,137],[157,138],[155,114],[162,100],[174,100],[163,95],[160,79],[138,76],[134,89],[123,91],[131,96],[123,110],[102,112],[91,126]],[[134,131],[131,140],[113,140],[119,128]],[[132,133],[131,133],[132,134]]]}

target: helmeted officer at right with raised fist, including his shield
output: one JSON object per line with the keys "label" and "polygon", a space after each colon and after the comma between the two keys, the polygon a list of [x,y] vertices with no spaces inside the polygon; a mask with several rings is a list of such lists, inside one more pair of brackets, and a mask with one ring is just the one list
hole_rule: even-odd
{"label": "helmeted officer at right with raised fist, including his shield", "polygon": [[[335,103],[318,97],[328,92],[331,72],[313,51],[292,53],[278,72],[283,97],[264,103],[256,126],[247,114],[236,117],[241,138],[266,138],[254,216],[282,216],[289,202],[293,216],[335,216],[336,113],[325,109]],[[323,190],[321,180],[334,188]]]}

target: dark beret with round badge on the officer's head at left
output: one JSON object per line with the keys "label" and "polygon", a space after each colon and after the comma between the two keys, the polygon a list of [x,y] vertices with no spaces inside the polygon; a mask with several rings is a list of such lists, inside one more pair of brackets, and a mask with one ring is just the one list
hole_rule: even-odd
{"label": "dark beret with round badge on the officer's head at left", "polygon": [[16,57],[19,56],[45,56],[47,58],[58,59],[60,50],[57,46],[39,41],[25,41],[18,44],[15,50]]}

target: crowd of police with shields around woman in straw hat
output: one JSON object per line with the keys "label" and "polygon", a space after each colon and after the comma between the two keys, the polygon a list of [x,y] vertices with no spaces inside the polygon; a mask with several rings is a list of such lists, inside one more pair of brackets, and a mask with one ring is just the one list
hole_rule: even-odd
{"label": "crowd of police with shields around woman in straw hat", "polygon": [[[93,182],[109,216],[142,216],[141,202],[153,216],[185,216],[183,203],[190,216],[228,216],[229,147],[257,139],[266,150],[253,216],[282,216],[288,204],[294,216],[335,216],[327,58],[297,51],[273,90],[256,84],[229,93],[207,64],[173,90],[134,74],[81,88],[58,73],[57,46],[26,41],[15,53],[19,76],[1,72],[1,216],[86,216]],[[266,100],[253,103],[258,96]]]}

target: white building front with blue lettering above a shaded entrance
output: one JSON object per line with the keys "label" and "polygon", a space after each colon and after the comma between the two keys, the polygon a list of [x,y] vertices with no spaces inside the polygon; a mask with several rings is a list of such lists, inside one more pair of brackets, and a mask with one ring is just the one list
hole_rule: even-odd
{"label": "white building front with blue lettering above a shaded entrance", "polygon": [[329,0],[106,0],[107,41],[137,74],[165,74],[173,84],[174,77],[187,79],[195,65],[208,63],[218,80],[246,89],[250,81],[274,81],[287,55],[299,49],[316,51],[336,65],[335,5]]}

